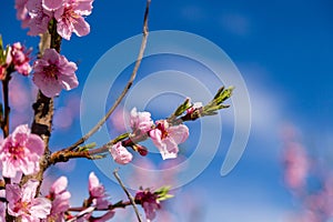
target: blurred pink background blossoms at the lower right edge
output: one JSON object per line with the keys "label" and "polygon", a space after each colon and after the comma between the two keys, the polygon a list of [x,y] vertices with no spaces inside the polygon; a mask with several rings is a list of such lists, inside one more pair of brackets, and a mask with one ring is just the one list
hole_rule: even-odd
{"label": "blurred pink background blossoms at the lower right edge", "polygon": [[[321,222],[333,219],[333,171],[289,129],[284,141],[284,182],[299,204],[291,221]],[[319,164],[319,162],[321,164]]]}

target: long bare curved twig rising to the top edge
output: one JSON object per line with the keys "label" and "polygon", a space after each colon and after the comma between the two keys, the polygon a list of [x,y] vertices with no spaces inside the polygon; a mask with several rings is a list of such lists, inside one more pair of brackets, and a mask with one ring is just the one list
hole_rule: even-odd
{"label": "long bare curved twig rising to the top edge", "polygon": [[127,85],[124,87],[123,91],[121,92],[121,94],[119,95],[119,98],[115,100],[115,102],[113,103],[113,105],[109,109],[109,111],[107,112],[107,114],[85,135],[83,135],[80,140],[78,140],[72,145],[65,148],[63,151],[74,150],[78,145],[82,144],[92,134],[94,134],[102,127],[102,124],[105,123],[105,121],[113,113],[113,111],[115,110],[115,108],[120,104],[120,102],[122,101],[122,99],[124,98],[124,95],[128,93],[129,89],[132,87],[132,83],[133,83],[133,81],[134,81],[134,79],[137,77],[139,67],[141,64],[142,58],[143,58],[144,49],[145,49],[145,46],[147,46],[147,39],[148,39],[148,14],[149,14],[150,2],[151,2],[151,0],[147,0],[144,19],[143,19],[143,31],[142,31],[143,37],[142,37],[142,42],[141,42],[140,51],[139,51],[139,54],[138,54],[138,58],[137,58],[137,62],[135,62],[135,65],[133,68],[133,71],[132,71],[130,80],[128,81]]}

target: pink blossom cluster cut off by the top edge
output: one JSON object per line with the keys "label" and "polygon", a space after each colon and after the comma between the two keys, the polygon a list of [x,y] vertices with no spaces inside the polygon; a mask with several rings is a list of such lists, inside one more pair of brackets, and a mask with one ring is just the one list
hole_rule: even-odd
{"label": "pink blossom cluster cut off by the top edge", "polygon": [[74,32],[79,37],[90,32],[90,26],[84,20],[91,14],[93,0],[16,0],[17,18],[23,28],[29,28],[28,34],[46,33],[49,22],[57,21],[57,32],[63,39],[70,40]]}

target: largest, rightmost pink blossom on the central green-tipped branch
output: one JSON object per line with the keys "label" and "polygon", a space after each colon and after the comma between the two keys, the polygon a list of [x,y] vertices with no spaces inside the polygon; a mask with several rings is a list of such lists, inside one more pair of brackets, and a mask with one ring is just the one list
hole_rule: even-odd
{"label": "largest, rightmost pink blossom on the central green-tipped branch", "polygon": [[189,128],[184,124],[169,125],[167,120],[159,120],[149,135],[160,150],[163,160],[173,159],[176,158],[179,151],[178,144],[188,139]]}

